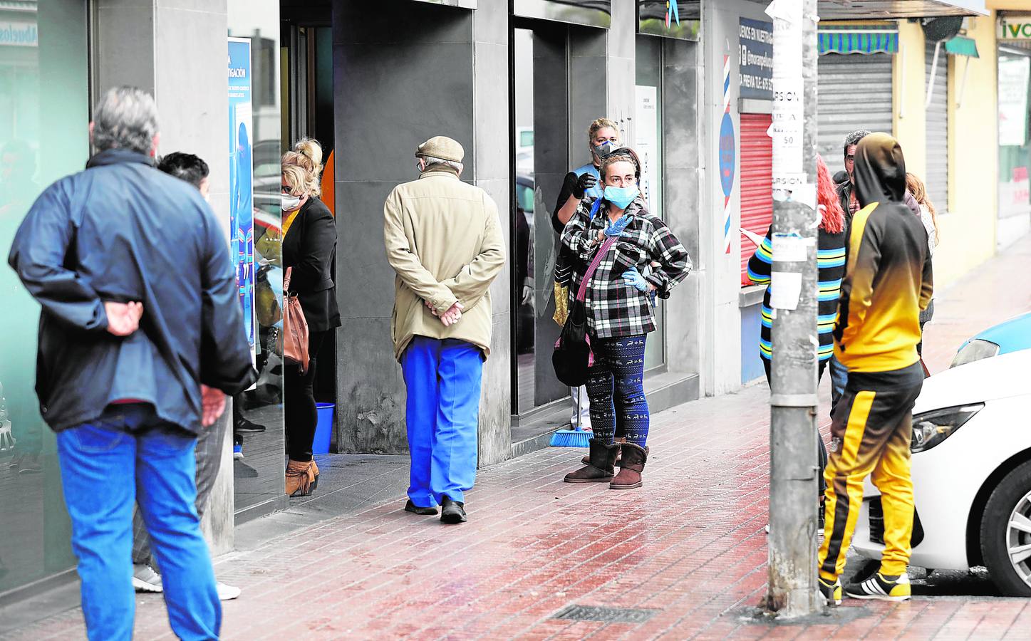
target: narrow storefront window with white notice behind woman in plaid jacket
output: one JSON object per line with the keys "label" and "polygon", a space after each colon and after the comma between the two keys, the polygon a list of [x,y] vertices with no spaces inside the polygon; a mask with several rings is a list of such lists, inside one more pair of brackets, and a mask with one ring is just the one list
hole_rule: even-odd
{"label": "narrow storefront window with white notice behind woman in plaid jacket", "polygon": [[[663,217],[662,208],[662,38],[637,36],[634,128],[631,145],[641,161],[640,190],[648,210]],[[663,365],[665,306],[656,299],[656,331],[644,348],[644,369]]]}

